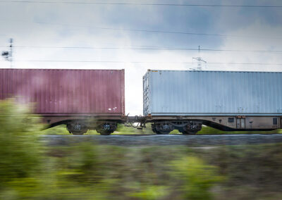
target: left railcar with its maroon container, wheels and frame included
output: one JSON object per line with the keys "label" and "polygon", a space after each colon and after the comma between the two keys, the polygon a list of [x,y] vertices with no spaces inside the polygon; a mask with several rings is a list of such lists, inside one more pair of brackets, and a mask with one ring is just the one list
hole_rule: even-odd
{"label": "left railcar with its maroon container, wheels and frame included", "polygon": [[109,135],[125,121],[124,70],[0,69],[0,99],[34,102],[49,127]]}

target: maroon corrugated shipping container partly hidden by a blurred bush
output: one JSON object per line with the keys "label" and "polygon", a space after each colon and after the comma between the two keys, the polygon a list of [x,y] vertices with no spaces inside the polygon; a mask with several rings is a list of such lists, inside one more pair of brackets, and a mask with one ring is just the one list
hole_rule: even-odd
{"label": "maroon corrugated shipping container partly hidden by a blurred bush", "polygon": [[35,102],[47,115],[125,113],[124,70],[0,69],[0,99]]}

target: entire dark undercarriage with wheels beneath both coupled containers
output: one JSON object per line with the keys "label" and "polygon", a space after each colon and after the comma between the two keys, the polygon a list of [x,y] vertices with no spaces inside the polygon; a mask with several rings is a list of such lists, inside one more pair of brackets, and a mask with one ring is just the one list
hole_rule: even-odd
{"label": "entire dark undercarriage with wheels beneath both coupled containers", "polygon": [[97,130],[101,135],[110,135],[117,128],[118,123],[140,123],[145,127],[151,123],[152,131],[159,135],[169,134],[178,130],[184,135],[195,135],[202,129],[202,125],[214,127],[224,131],[268,131],[282,128],[282,117],[250,116],[250,115],[214,115],[214,116],[178,116],[178,115],[44,115],[44,123],[49,127],[66,125],[73,135],[82,135],[87,130]]}

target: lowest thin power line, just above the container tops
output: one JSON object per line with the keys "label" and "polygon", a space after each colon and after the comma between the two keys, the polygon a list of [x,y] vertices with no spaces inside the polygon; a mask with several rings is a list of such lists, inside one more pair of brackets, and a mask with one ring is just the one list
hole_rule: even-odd
{"label": "lowest thin power line, just above the container tops", "polygon": [[[52,62],[52,63],[161,63],[161,64],[194,64],[191,62],[145,62],[145,61],[66,61],[66,60],[17,60],[15,62]],[[207,64],[219,65],[282,65],[282,63],[219,63]]]}

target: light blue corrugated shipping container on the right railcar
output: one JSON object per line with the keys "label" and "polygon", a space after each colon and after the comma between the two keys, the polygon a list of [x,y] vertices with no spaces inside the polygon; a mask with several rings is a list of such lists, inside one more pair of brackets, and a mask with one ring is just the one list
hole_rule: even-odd
{"label": "light blue corrugated shipping container on the right railcar", "polygon": [[148,70],[144,115],[282,115],[282,73]]}

